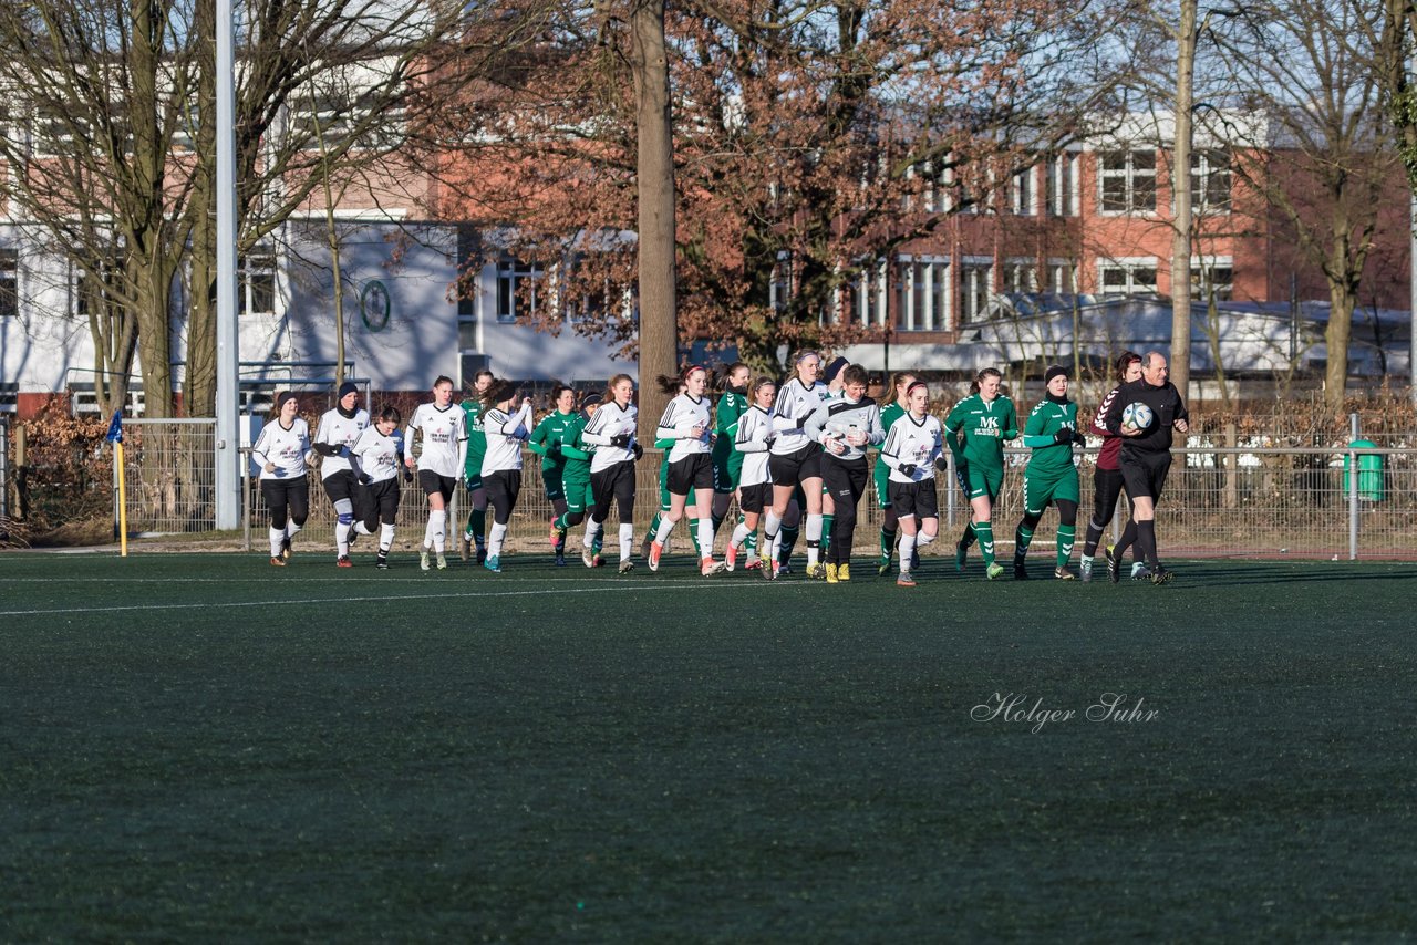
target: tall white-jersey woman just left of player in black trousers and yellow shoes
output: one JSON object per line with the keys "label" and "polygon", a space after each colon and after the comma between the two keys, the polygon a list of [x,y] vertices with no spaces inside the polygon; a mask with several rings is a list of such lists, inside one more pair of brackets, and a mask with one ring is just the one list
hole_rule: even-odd
{"label": "tall white-jersey woman just left of player in black trousers and yellow shoes", "polygon": [[[816,351],[798,351],[792,358],[792,378],[778,388],[772,405],[774,441],[769,448],[768,472],[772,476],[772,507],[762,528],[762,567],[781,570],[777,558],[768,561],[772,543],[788,513],[792,493],[802,487],[806,504],[806,575],[826,577],[820,565],[822,553],[822,445],[803,432],[806,418],[826,400],[826,384],[818,378],[822,357]],[[764,577],[769,577],[764,571]]]}

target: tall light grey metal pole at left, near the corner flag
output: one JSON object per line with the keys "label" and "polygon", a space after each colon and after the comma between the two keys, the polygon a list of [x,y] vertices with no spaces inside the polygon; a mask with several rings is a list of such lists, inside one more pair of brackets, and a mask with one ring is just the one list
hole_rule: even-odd
{"label": "tall light grey metal pole at left, near the corner flag", "polygon": [[237,363],[237,95],[232,0],[217,0],[217,528],[241,513]]}

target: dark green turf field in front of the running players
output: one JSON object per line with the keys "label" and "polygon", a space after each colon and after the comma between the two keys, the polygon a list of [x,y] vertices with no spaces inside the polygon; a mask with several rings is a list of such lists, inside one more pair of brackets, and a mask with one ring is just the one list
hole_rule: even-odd
{"label": "dark green turf field in front of the running players", "polygon": [[1417,928],[1410,564],[357,561],[0,555],[0,941]]}

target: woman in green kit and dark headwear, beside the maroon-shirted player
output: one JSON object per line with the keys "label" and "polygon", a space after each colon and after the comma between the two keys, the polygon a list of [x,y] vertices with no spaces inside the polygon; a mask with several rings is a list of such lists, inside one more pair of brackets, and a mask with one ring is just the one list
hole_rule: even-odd
{"label": "woman in green kit and dark headwear, beside the maroon-shirted player", "polygon": [[1026,581],[1029,577],[1024,560],[1033,530],[1049,503],[1058,507],[1057,564],[1053,577],[1071,581],[1073,572],[1067,562],[1073,555],[1077,537],[1077,466],[1073,465],[1073,443],[1085,443],[1087,438],[1077,428],[1077,404],[1067,398],[1067,368],[1057,364],[1043,374],[1047,394],[1029,414],[1023,426],[1023,445],[1033,451],[1029,466],[1023,470],[1023,520],[1013,533],[1013,577]]}

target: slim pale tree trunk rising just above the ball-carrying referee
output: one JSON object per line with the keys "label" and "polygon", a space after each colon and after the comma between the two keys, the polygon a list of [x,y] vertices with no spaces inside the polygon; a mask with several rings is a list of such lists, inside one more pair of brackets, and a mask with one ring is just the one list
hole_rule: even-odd
{"label": "slim pale tree trunk rising just above the ball-carrying referee", "polygon": [[1170,249],[1170,380],[1189,400],[1190,387],[1190,145],[1196,74],[1196,0],[1180,0],[1176,30],[1176,133],[1170,193],[1176,205]]}

